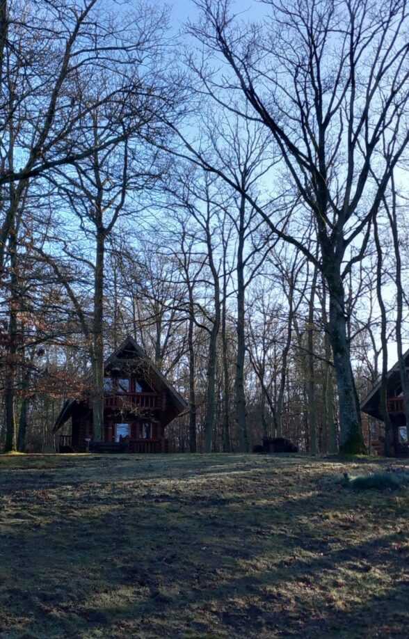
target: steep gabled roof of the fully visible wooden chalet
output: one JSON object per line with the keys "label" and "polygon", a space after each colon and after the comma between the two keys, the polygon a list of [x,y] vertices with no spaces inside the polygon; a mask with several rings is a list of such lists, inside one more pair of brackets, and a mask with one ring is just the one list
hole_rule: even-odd
{"label": "steep gabled roof of the fully visible wooden chalet", "polygon": [[[133,363],[134,365],[137,363],[138,368],[140,368],[144,374],[149,374],[149,381],[158,392],[167,390],[172,402],[172,409],[168,415],[168,423],[186,409],[187,404],[182,395],[169,383],[157,365],[152,362],[143,348],[138,345],[131,335],[127,336],[122,344],[106,358],[104,370],[113,370],[115,365],[124,365],[125,363]],[[89,378],[89,381],[92,382],[92,376]],[[74,399],[69,399],[64,402],[63,408],[53,427],[54,433],[70,419],[75,407],[79,406],[80,403],[81,402]]]}

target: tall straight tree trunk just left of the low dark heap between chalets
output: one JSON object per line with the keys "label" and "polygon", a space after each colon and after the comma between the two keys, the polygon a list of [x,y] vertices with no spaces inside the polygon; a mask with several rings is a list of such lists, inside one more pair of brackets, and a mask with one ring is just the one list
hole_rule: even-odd
{"label": "tall straight tree trunk just left of the low dark heap between chalets", "polygon": [[246,423],[246,394],[244,393],[244,361],[246,356],[246,336],[244,330],[245,308],[244,308],[244,214],[246,198],[241,196],[240,202],[240,222],[239,222],[239,244],[237,247],[237,356],[236,356],[236,418],[239,429],[239,451],[248,452],[248,432]]}

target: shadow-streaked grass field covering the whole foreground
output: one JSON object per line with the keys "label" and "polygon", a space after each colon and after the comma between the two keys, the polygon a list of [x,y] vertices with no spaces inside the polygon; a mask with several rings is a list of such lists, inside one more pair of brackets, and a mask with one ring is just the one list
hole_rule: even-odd
{"label": "shadow-streaked grass field covering the whole foreground", "polygon": [[409,493],[334,480],[385,464],[3,455],[0,634],[408,637]]}

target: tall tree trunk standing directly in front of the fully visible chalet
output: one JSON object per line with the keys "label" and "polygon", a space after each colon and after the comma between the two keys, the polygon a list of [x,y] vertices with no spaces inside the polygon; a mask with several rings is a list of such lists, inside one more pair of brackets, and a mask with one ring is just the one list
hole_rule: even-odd
{"label": "tall tree trunk standing directly in front of the fully visible chalet", "polygon": [[104,434],[104,253],[105,233],[99,227],[94,281],[93,441],[102,441]]}

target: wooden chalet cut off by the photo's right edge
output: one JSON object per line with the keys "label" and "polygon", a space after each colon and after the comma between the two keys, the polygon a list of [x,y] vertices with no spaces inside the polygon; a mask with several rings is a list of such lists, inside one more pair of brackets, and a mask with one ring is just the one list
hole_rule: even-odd
{"label": "wooden chalet cut off by the photo's right edge", "polygon": [[[405,354],[406,372],[409,371],[409,351]],[[361,411],[382,422],[380,413],[380,381],[367,397],[361,402]],[[392,453],[399,456],[409,456],[408,430],[406,427],[405,407],[403,404],[403,393],[401,385],[401,374],[399,363],[387,373],[387,412],[392,422]],[[385,437],[380,435],[378,439],[371,442],[371,445],[383,455]]]}

